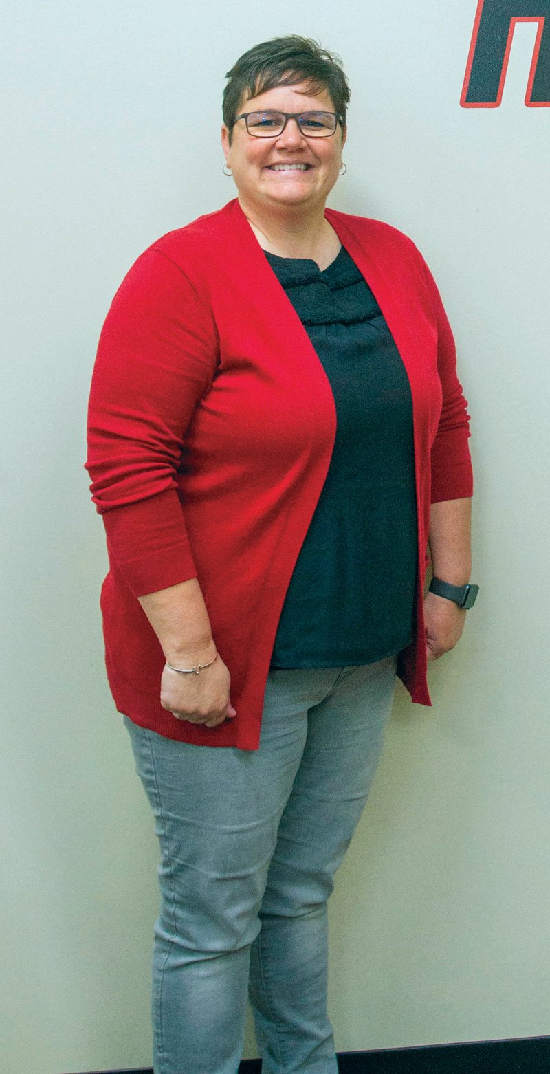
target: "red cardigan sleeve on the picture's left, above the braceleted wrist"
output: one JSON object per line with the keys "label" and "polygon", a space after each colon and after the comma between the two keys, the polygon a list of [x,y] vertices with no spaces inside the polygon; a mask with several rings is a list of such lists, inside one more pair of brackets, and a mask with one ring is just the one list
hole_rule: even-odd
{"label": "red cardigan sleeve on the picture's left, above the braceleted wrist", "polygon": [[212,311],[182,270],[149,248],[101,332],[85,464],[110,556],[138,596],[197,575],[176,475],[217,353]]}

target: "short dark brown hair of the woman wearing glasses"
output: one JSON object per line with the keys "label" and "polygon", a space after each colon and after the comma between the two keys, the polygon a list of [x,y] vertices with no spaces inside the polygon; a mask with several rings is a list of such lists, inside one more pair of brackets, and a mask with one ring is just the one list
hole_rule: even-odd
{"label": "short dark brown hair of the woman wearing glasses", "polygon": [[230,139],[243,97],[248,100],[274,86],[293,86],[299,82],[308,82],[313,95],[325,89],[341,122],[346,122],[350,90],[342,60],[310,38],[291,33],[263,41],[244,53],[226,77],[229,82],[223,90],[223,122]]}

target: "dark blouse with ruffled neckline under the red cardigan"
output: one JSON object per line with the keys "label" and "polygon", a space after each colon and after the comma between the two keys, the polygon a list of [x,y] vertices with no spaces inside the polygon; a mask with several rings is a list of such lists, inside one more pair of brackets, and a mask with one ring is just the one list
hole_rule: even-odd
{"label": "dark blouse with ruffled neckline under the red cardigan", "polygon": [[370,664],[408,644],[417,568],[412,402],[371,288],[347,250],[265,256],[332,388],[336,438],[283,607],[271,666]]}

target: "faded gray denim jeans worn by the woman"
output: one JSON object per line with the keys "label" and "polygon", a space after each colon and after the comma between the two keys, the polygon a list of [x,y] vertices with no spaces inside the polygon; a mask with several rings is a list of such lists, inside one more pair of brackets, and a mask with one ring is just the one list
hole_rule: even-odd
{"label": "faded gray denim jeans worn by the woman", "polygon": [[247,991],[263,1074],[336,1074],[327,900],[380,756],[395,665],[271,671],[256,752],[124,717],[161,850],[155,1074],[236,1074]]}

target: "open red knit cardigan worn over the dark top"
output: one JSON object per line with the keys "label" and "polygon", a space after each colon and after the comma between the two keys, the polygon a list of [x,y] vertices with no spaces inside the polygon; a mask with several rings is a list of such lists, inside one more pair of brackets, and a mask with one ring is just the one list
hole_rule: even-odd
{"label": "open red knit cardigan worn over the dark top", "polygon": [[[408,374],[418,503],[415,640],[399,673],[430,705],[422,599],[430,504],[472,495],[451,329],[411,240],[327,209]],[[138,258],[99,343],[86,467],[111,570],[101,608],[117,709],[169,738],[258,748],[277,623],[335,437],[322,365],[236,200]],[[136,597],[198,577],[231,673],[234,720],[160,706],[164,657]]]}

